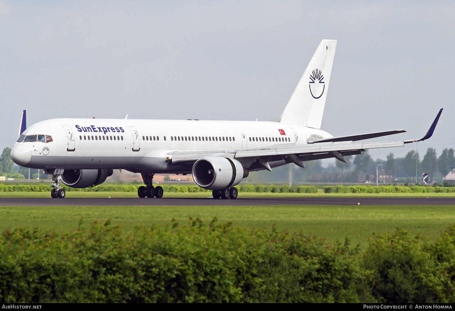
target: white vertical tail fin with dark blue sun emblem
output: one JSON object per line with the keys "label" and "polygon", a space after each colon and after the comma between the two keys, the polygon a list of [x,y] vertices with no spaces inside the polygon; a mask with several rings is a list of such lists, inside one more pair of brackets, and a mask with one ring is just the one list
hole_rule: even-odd
{"label": "white vertical tail fin with dark blue sun emblem", "polygon": [[337,40],[322,40],[281,116],[274,120],[321,127]]}

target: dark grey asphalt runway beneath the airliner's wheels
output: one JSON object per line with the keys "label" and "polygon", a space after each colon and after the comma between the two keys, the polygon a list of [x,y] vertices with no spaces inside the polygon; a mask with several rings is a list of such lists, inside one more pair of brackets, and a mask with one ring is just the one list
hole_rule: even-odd
{"label": "dark grey asphalt runway beneath the airliner's wheels", "polygon": [[0,206],[455,205],[455,198],[0,198]]}

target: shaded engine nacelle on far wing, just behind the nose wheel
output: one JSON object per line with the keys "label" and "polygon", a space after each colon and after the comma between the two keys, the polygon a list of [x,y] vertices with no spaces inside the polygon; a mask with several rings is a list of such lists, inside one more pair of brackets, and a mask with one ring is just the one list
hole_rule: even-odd
{"label": "shaded engine nacelle on far wing, just behind the nose wheel", "polygon": [[102,184],[112,170],[65,170],[61,181],[72,188],[87,188]]}

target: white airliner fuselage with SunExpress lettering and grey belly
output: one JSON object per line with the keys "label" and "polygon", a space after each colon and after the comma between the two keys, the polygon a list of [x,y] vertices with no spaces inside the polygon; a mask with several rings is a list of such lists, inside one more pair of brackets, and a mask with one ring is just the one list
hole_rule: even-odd
{"label": "white airliner fuselage with SunExpress lettering and grey belly", "polygon": [[190,173],[172,164],[173,151],[238,150],[307,144],[329,133],[268,121],[52,119],[22,135],[48,135],[51,142],[16,142],[11,156],[39,169],[126,169],[139,173]]}

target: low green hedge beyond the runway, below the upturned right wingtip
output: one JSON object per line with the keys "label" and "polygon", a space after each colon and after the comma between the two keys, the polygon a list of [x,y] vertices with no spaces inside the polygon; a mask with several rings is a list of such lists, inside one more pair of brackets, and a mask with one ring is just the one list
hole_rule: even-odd
{"label": "low green hedge beyond the runway, below the upturned right wingtip", "polygon": [[430,193],[430,192],[455,192],[455,187],[431,187],[431,186],[326,186],[325,193]]}

